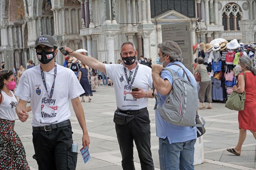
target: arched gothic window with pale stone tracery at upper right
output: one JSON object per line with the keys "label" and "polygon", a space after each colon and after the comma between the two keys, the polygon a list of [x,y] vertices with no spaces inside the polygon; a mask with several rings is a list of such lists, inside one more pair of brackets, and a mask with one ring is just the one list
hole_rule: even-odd
{"label": "arched gothic window with pale stone tracery at upper right", "polygon": [[224,26],[224,30],[240,30],[238,21],[242,19],[241,11],[238,4],[226,4],[222,11],[222,25]]}

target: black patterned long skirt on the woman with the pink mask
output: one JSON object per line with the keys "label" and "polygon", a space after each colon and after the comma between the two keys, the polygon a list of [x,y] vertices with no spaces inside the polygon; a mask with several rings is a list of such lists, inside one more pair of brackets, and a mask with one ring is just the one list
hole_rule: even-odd
{"label": "black patterned long skirt on the woman with the pink mask", "polygon": [[0,119],[0,170],[29,170],[23,144],[14,131],[14,120]]}

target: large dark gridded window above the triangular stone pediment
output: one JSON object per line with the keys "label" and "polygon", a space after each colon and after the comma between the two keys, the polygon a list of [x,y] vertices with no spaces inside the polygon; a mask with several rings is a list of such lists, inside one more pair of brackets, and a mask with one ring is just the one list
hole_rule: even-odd
{"label": "large dark gridded window above the triangular stone pediment", "polygon": [[150,0],[151,17],[156,17],[166,11],[175,10],[187,17],[196,17],[194,0]]}

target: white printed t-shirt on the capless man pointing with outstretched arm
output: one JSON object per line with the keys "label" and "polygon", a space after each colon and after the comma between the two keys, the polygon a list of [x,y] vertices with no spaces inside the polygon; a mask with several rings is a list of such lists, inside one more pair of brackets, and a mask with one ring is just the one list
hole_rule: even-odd
{"label": "white printed t-shirt on the capless man pointing with outstretched arm", "polygon": [[[138,61],[136,61],[138,63]],[[139,87],[142,88],[144,91],[148,91],[149,88],[152,88],[152,76],[151,76],[151,68],[138,64],[138,71],[135,76],[134,82],[131,88]],[[124,68],[127,72],[127,77],[129,77],[129,70],[124,67],[124,65],[119,64],[105,64],[105,70],[107,76],[114,83],[115,89],[115,100],[117,103],[117,107],[121,110],[139,110],[148,106],[148,98],[140,98],[135,99],[131,96],[130,92],[131,89],[129,88]],[[132,69],[132,77],[134,76],[136,68]],[[132,81],[131,81],[132,82]],[[131,85],[131,82],[129,84]]]}

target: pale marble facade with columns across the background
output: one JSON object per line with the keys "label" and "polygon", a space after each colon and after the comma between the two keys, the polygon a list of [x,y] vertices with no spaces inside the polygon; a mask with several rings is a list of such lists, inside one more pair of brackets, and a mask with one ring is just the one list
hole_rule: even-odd
{"label": "pale marble facade with columns across the background", "polygon": [[[121,44],[129,40],[135,44],[139,55],[151,57],[155,63],[157,45],[162,42],[161,25],[187,21],[193,25],[193,44],[207,43],[218,37],[227,40],[236,38],[245,43],[256,41],[256,0],[232,1],[241,13],[241,30],[236,28],[236,24],[234,30],[224,30],[222,25],[222,14],[230,0],[195,0],[195,18],[174,10],[152,18],[150,2],[0,0],[0,61],[4,60],[4,51],[11,49],[15,67],[25,65],[27,59],[38,64],[35,39],[39,35],[50,34],[58,46],[85,48],[88,55],[107,63],[117,63]],[[15,12],[17,9],[18,12]],[[56,62],[62,65],[63,60],[58,53]]]}

